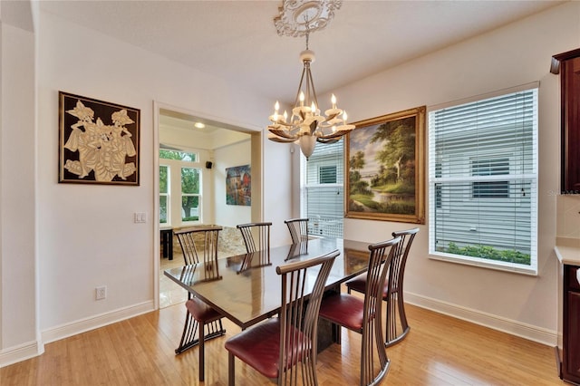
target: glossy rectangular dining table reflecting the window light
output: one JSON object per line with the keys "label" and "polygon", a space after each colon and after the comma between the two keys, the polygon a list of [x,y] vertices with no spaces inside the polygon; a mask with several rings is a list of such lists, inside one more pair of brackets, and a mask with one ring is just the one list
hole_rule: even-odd
{"label": "glossy rectangular dining table reflecting the window light", "polygon": [[[254,253],[219,258],[169,268],[169,279],[198,296],[241,329],[277,314],[281,307],[281,277],[278,265],[314,258],[338,249],[333,268],[326,280],[326,291],[340,291],[340,285],[366,271],[371,243],[342,238],[313,238],[295,244],[275,246]],[[306,294],[310,293],[318,268],[309,272]],[[322,322],[322,321],[321,321]],[[328,330],[325,337],[322,330]],[[332,327],[319,325],[319,345],[329,345]]]}

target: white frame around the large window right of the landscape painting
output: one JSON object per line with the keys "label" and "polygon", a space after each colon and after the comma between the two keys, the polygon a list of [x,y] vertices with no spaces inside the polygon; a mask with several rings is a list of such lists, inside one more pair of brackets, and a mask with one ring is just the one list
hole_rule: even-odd
{"label": "white frame around the large window right of the landscape painting", "polygon": [[[446,103],[441,103],[438,105],[433,105],[433,106],[428,106],[427,108],[427,117],[428,117],[428,138],[430,138],[430,125],[429,125],[429,117],[430,117],[430,113],[432,111],[439,111],[442,109],[446,109],[449,107],[454,107],[454,106],[459,106],[462,104],[468,104],[470,102],[474,102],[474,101],[483,101],[483,100],[487,100],[487,99],[491,99],[494,97],[499,97],[502,95],[507,95],[510,93],[516,93],[516,92],[524,92],[524,91],[528,91],[528,90],[532,90],[532,89],[536,89],[536,120],[535,120],[535,137],[536,137],[536,141],[534,143],[534,151],[537,154],[537,136],[539,134],[539,128],[538,128],[538,115],[539,115],[539,82],[530,82],[527,84],[523,84],[520,86],[516,86],[516,87],[512,87],[512,88],[507,88],[507,89],[503,89],[503,90],[499,90],[497,92],[489,92],[489,93],[485,93],[485,94],[480,94],[477,96],[473,96],[473,97],[469,97],[466,99],[462,99],[462,100],[458,100],[458,101],[450,101],[450,102],[446,102]],[[429,240],[429,258],[432,260],[440,260],[440,261],[445,261],[445,262],[450,262],[450,263],[456,263],[456,264],[461,264],[461,265],[471,265],[471,266],[478,266],[478,267],[483,267],[483,268],[488,268],[488,269],[492,269],[492,270],[498,270],[498,271],[504,271],[504,272],[512,272],[512,273],[517,273],[517,274],[522,274],[522,275],[533,275],[536,276],[538,275],[538,256],[537,256],[537,217],[538,217],[538,198],[539,198],[539,192],[537,190],[538,187],[538,179],[539,179],[539,170],[538,170],[538,163],[539,160],[536,156],[536,173],[533,175],[529,175],[529,174],[520,174],[517,175],[517,178],[514,177],[513,175],[497,175],[497,176],[489,176],[489,177],[493,177],[493,179],[501,179],[501,180],[508,180],[511,181],[515,180],[515,179],[532,179],[532,188],[536,188],[536,197],[535,200],[533,200],[530,205],[530,218],[532,221],[532,229],[531,229],[531,241],[530,241],[530,247],[531,247],[531,253],[532,253],[532,261],[530,262],[530,266],[527,267],[525,265],[517,265],[514,263],[508,263],[508,262],[503,262],[503,261],[499,261],[499,260],[490,260],[490,259],[486,259],[486,258],[482,258],[482,257],[475,257],[475,256],[460,256],[460,255],[454,255],[454,254],[449,254],[446,252],[440,252],[440,251],[436,251],[435,250],[435,232],[433,231],[432,227],[434,227],[433,221],[434,221],[434,211],[435,211],[435,206],[436,206],[436,202],[437,202],[437,198],[435,197],[435,190],[433,189],[433,192],[431,193],[431,189],[436,187],[436,184],[438,182],[444,182],[445,179],[437,179],[436,181],[433,180],[433,176],[431,176],[431,163],[433,165],[433,169],[435,170],[435,165],[436,163],[439,163],[439,160],[435,160],[432,158],[432,154],[431,154],[431,150],[429,147],[429,151],[428,151],[428,168],[429,168],[429,172],[428,172],[428,195],[429,195],[429,216],[430,216],[430,221],[429,221],[429,227],[430,227],[430,240]],[[502,154],[502,155],[497,155],[497,158],[504,158],[504,156],[507,156]],[[508,156],[507,158],[509,158],[509,168],[510,168],[510,173],[512,168],[515,167],[514,163],[512,162],[512,159],[510,156]],[[441,170],[441,168],[439,169]],[[506,179],[506,177],[508,177]],[[467,178],[469,179],[469,178]],[[455,179],[454,179],[455,180]],[[480,200],[480,199],[495,199],[495,198],[473,198],[470,195],[470,199],[472,200]]]}

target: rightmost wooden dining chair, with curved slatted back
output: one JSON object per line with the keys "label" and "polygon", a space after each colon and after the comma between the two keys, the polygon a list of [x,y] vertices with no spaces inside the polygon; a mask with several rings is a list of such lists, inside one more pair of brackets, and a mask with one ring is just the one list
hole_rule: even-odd
{"label": "rightmost wooden dining chair, with curved slatted back", "polygon": [[[382,300],[387,302],[386,312],[386,333],[385,345],[387,347],[401,342],[411,330],[405,314],[405,303],[403,300],[403,278],[405,275],[405,265],[411,250],[411,245],[415,236],[419,233],[419,228],[400,230],[392,232],[393,237],[401,236],[401,243],[397,245],[392,257],[391,272],[388,274],[382,291]],[[345,283],[348,293],[356,291],[364,294],[366,286],[366,274],[358,275]],[[401,333],[399,333],[401,326]]]}

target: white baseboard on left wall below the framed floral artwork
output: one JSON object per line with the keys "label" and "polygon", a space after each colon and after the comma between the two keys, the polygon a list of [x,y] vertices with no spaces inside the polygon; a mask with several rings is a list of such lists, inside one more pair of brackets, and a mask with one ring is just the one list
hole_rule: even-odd
{"label": "white baseboard on left wall below the framed floral artwork", "polygon": [[104,325],[121,322],[122,320],[129,319],[140,314],[146,314],[153,311],[155,309],[154,307],[155,304],[153,304],[153,301],[148,301],[141,304],[133,304],[129,307],[120,308],[118,310],[113,310],[110,313],[94,315],[73,323],[62,324],[60,326],[56,326],[41,332],[43,343],[59,341],[63,338],[76,335],[77,333],[85,333]]}

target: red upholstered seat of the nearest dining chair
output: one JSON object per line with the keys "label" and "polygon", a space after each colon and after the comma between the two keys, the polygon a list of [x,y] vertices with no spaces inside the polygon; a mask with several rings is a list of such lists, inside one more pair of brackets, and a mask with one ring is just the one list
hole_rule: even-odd
{"label": "red upholstered seat of the nearest dining chair", "polygon": [[[295,331],[302,342],[304,334]],[[307,344],[310,347],[310,344]],[[297,350],[302,350],[302,344],[293,345]],[[244,358],[250,366],[265,375],[267,378],[277,378],[279,375],[278,358],[280,357],[280,319],[271,318],[266,322],[259,323],[255,327],[239,333],[226,342],[227,351],[238,358]],[[296,352],[295,361],[302,359],[303,352]],[[287,363],[287,368],[295,363]]]}

